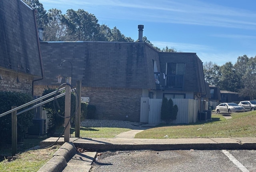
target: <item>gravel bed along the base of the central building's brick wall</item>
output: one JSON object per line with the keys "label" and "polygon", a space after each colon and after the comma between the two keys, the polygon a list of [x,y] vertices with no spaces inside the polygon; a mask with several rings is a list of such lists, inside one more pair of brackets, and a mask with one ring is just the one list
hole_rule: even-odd
{"label": "gravel bed along the base of the central building's brick wall", "polygon": [[118,120],[106,120],[106,119],[86,119],[81,121],[81,127],[116,127],[127,129],[141,129],[143,123],[131,122],[131,121],[118,121]]}

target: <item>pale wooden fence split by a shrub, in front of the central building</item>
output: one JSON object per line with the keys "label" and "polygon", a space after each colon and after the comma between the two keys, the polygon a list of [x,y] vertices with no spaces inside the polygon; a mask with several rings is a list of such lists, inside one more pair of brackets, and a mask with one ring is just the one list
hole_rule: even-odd
{"label": "pale wooden fence split by a shrub, in front of the central building", "polygon": [[[194,99],[172,99],[173,104],[178,106],[177,119],[174,124],[195,123],[199,109],[198,100]],[[148,124],[160,124],[162,99],[149,99],[142,97],[140,99],[140,122]]]}

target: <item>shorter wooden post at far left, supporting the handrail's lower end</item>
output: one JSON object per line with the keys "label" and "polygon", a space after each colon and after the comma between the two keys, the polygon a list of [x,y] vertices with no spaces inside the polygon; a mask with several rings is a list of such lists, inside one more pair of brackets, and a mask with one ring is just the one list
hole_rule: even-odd
{"label": "shorter wooden post at far left, supporting the handrail's lower end", "polygon": [[[12,109],[17,106],[12,106]],[[17,153],[17,111],[12,112],[12,156]]]}

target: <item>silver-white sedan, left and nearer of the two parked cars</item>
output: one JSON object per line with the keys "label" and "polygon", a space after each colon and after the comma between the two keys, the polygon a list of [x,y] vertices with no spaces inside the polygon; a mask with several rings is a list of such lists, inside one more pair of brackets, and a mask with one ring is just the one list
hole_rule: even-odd
{"label": "silver-white sedan, left and nearer of the two parked cars", "polygon": [[244,107],[236,103],[221,103],[215,108],[216,113],[244,112]]}

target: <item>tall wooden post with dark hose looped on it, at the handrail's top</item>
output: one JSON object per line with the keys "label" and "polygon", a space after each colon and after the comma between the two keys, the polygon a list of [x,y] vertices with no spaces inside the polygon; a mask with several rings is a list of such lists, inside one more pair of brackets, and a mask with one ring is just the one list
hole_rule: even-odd
{"label": "tall wooden post with dark hose looped on it, at the handrail's top", "polygon": [[[71,83],[71,77],[66,77],[66,83]],[[70,137],[70,106],[71,106],[71,87],[66,85],[65,93],[65,120],[64,120],[64,142],[69,142]]]}

